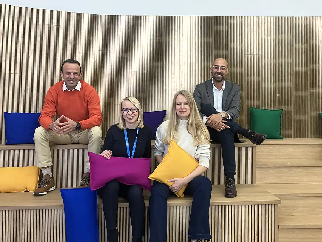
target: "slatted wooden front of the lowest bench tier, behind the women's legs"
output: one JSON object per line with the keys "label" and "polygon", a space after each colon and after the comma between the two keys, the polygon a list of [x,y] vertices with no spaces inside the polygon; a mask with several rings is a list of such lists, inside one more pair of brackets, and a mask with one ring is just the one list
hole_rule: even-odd
{"label": "slatted wooden front of the lowest bench tier, behind the women's legs", "polygon": [[[276,242],[274,209],[274,204],[211,206],[211,241]],[[148,214],[146,207],[145,242],[149,238]],[[189,214],[190,206],[168,207],[168,241],[187,241]],[[118,210],[118,228],[119,241],[131,241],[128,207]],[[99,208],[99,230],[100,242],[105,242],[102,208]],[[0,241],[65,242],[64,210],[0,210]]]}

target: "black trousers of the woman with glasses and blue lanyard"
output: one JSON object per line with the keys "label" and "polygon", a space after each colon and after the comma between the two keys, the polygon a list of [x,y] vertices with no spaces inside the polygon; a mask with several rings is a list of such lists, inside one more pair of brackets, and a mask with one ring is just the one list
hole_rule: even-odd
{"label": "black trousers of the woman with glasses and blue lanyard", "polygon": [[137,185],[128,186],[117,180],[112,180],[98,189],[97,193],[102,198],[103,210],[107,229],[117,227],[118,197],[129,202],[132,225],[132,236],[144,236],[145,204],[143,189]]}

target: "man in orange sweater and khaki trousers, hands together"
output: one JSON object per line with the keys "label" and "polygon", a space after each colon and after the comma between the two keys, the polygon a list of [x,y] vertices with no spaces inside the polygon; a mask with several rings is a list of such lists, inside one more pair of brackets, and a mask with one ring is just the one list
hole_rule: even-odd
{"label": "man in orange sweater and khaki trousers, hands together", "polygon": [[[97,91],[83,80],[81,65],[76,60],[62,63],[60,81],[49,88],[39,117],[40,127],[34,133],[37,166],[43,179],[34,195],[45,195],[55,189],[52,176],[50,145],[88,144],[88,151],[99,154],[102,143],[102,112]],[[53,121],[57,114],[58,119]],[[80,187],[90,187],[90,162]]]}

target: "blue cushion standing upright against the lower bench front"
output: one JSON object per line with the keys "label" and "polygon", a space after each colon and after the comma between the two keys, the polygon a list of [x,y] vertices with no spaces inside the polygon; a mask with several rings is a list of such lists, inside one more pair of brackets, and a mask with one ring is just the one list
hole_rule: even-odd
{"label": "blue cushion standing upright against the lower bench front", "polygon": [[60,189],[65,212],[66,242],[99,242],[97,190]]}

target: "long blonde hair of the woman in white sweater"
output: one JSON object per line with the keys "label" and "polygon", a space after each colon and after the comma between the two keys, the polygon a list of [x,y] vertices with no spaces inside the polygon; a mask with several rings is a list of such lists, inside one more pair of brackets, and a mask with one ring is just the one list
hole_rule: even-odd
{"label": "long blonde hair of the woman in white sweater", "polygon": [[178,125],[179,120],[177,113],[175,111],[175,104],[176,98],[178,95],[183,95],[188,102],[190,107],[190,116],[188,121],[188,133],[192,135],[194,145],[198,146],[199,144],[210,144],[210,136],[209,131],[207,130],[206,126],[204,125],[200,113],[197,108],[197,104],[194,101],[194,97],[191,95],[190,92],[181,90],[179,91],[172,100],[172,106],[170,111],[170,120],[169,125],[167,128],[166,136],[164,138],[164,143],[169,145],[171,140],[178,140]]}

